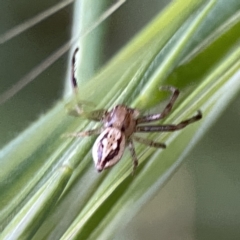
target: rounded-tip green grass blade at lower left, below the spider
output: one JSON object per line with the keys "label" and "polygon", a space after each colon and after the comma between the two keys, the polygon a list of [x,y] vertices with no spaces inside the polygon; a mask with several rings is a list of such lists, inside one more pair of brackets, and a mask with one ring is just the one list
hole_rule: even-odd
{"label": "rounded-tip green grass blade at lower left, below the spider", "polygon": [[66,167],[58,169],[8,224],[0,239],[32,238],[49,211],[56,205],[71,173],[72,170]]}

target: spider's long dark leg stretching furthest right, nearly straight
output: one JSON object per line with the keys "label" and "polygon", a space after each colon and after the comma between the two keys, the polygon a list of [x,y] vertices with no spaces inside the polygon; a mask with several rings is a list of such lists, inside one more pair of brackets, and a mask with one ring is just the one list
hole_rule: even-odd
{"label": "spider's long dark leg stretching furthest right, nearly straight", "polygon": [[184,120],[176,125],[148,125],[148,126],[137,126],[136,132],[172,132],[182,128],[185,128],[187,125],[194,123],[202,118],[201,111],[198,111],[196,116],[193,116],[187,120]]}

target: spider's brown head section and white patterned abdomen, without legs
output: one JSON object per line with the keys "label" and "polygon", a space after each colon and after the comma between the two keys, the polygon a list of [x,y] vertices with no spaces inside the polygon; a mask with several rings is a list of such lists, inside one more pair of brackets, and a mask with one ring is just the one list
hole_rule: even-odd
{"label": "spider's brown head section and white patterned abdomen, without legs", "polygon": [[126,147],[126,140],[134,133],[139,112],[124,105],[117,105],[106,113],[103,119],[103,132],[96,139],[92,155],[96,169],[115,165]]}

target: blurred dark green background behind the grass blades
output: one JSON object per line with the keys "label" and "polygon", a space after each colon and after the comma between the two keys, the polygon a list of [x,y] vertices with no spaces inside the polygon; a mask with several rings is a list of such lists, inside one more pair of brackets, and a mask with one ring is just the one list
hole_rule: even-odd
{"label": "blurred dark green background behind the grass blades", "polygon": [[[129,0],[111,16],[102,64],[167,2]],[[2,2],[0,34],[56,3],[55,0]],[[0,92],[66,42],[71,22],[72,5],[0,45]],[[67,60],[66,54],[0,106],[1,147],[60,99]],[[128,225],[125,235],[116,235],[116,239],[240,239],[239,109],[240,97],[224,111],[162,191]]]}

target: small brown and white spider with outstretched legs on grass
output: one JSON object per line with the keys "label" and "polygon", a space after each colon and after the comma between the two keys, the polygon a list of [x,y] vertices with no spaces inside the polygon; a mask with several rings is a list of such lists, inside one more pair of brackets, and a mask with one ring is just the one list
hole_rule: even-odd
{"label": "small brown and white spider with outstretched legs on grass", "polygon": [[[74,51],[72,57],[72,86],[74,92],[77,93],[77,80],[75,78],[75,61],[78,48]],[[96,169],[101,172],[104,169],[110,168],[115,165],[123,156],[126,145],[128,146],[132,160],[133,160],[133,173],[138,166],[138,159],[136,156],[133,140],[155,148],[166,148],[164,143],[154,142],[149,139],[135,136],[137,132],[171,132],[185,128],[191,123],[194,123],[202,118],[202,113],[198,110],[197,114],[187,120],[184,120],[176,125],[144,125],[163,119],[167,116],[179,95],[179,90],[172,86],[165,86],[161,88],[172,93],[169,103],[166,105],[161,113],[149,114],[140,116],[137,109],[129,108],[125,105],[117,105],[113,109],[107,111],[99,109],[91,111],[86,114],[89,120],[99,121],[102,127],[91,129],[84,132],[76,132],[67,134],[68,137],[84,137],[90,135],[100,134],[92,148],[92,156]],[[83,111],[76,105],[74,112],[81,116]]]}

